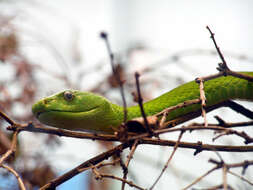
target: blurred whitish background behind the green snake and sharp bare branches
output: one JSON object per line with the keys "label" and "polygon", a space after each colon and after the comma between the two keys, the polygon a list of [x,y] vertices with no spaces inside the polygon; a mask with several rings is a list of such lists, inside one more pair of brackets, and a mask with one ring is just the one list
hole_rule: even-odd
{"label": "blurred whitish background behind the green snake and sharp bare branches", "polygon": [[[135,104],[134,72],[141,74],[145,100],[152,99],[196,77],[213,74],[220,59],[206,26],[215,38],[229,67],[253,70],[253,2],[251,0],[1,0],[0,1],[0,109],[17,122],[34,121],[31,105],[64,89],[79,89],[104,95],[122,104],[111,74],[101,31],[109,34],[117,71],[125,80],[127,105]],[[252,103],[240,102],[247,108]],[[247,121],[229,109],[208,114],[229,122]],[[197,121],[203,121],[202,118]],[[11,133],[0,120],[0,154],[10,146]],[[247,129],[247,132],[253,132]],[[177,139],[178,134],[163,135]],[[229,136],[212,142],[210,131],[185,134],[183,141],[243,145]],[[9,164],[21,174],[28,189],[37,189],[50,179],[113,147],[111,143],[22,132],[15,159]],[[150,187],[172,152],[171,147],[138,146],[129,167],[129,180]],[[179,149],[156,189],[181,189],[212,167],[217,156]],[[123,153],[126,156],[128,151]],[[252,153],[220,153],[225,161],[240,162]],[[124,158],[126,159],[126,158]],[[235,170],[240,172],[240,170]],[[122,177],[120,167],[106,171]],[[18,189],[16,179],[0,169],[0,189]],[[252,176],[249,168],[247,176]],[[235,189],[250,189],[235,177]],[[222,183],[222,172],[211,174],[195,187]],[[58,189],[120,189],[121,183],[96,181],[90,171],[76,176]],[[131,187],[126,186],[126,189]]]}

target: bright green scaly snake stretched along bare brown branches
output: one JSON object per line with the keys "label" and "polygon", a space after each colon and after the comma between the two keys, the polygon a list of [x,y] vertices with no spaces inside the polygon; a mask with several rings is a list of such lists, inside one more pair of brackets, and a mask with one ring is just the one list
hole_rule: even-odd
{"label": "bright green scaly snake stretched along bare brown branches", "polygon": [[[253,72],[242,73],[253,76]],[[207,106],[229,99],[253,101],[253,83],[232,76],[207,81],[204,89]],[[66,93],[70,98],[66,98]],[[144,110],[147,116],[151,116],[165,108],[196,98],[199,98],[199,85],[192,81],[144,103]],[[199,109],[199,104],[177,109],[169,113],[167,120]],[[32,106],[32,112],[41,123],[50,126],[97,133],[113,133],[124,117],[121,106],[102,96],[76,90],[63,91],[41,99]],[[141,117],[138,105],[128,107],[127,113],[127,120]]]}

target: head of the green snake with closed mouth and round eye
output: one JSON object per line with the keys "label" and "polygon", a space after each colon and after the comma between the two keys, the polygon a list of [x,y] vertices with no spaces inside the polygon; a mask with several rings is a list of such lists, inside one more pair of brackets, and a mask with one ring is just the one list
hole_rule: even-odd
{"label": "head of the green snake with closed mouth and round eye", "polygon": [[32,112],[41,123],[57,128],[112,132],[111,103],[93,93],[62,91],[35,103]]}

